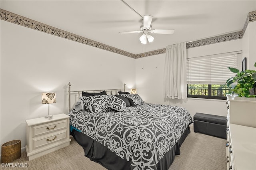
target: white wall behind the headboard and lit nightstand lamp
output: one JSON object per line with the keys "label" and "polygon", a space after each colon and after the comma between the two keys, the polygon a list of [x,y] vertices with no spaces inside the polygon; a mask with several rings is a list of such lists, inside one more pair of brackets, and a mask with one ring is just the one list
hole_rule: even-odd
{"label": "white wall behind the headboard and lit nightstand lamp", "polygon": [[56,92],[50,114],[68,113],[72,90],[135,85],[135,59],[1,20],[0,143],[26,145],[25,120],[44,117],[42,92]]}

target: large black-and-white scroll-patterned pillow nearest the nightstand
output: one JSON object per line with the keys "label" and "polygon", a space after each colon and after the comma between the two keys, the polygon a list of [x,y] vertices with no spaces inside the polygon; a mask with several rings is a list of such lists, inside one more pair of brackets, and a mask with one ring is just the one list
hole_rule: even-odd
{"label": "large black-and-white scroll-patterned pillow nearest the nightstand", "polygon": [[109,95],[82,96],[80,99],[84,103],[84,110],[90,113],[104,113],[111,110]]}

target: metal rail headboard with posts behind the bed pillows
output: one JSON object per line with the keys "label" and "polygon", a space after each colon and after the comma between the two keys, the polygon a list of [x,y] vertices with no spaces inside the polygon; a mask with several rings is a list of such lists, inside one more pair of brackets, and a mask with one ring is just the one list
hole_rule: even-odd
{"label": "metal rail headboard with posts behind the bed pillows", "polygon": [[103,90],[79,90],[79,91],[70,91],[70,87],[71,87],[71,84],[68,83],[68,111],[70,111],[70,94],[71,93],[78,93],[78,97],[80,97],[80,95],[82,96],[82,92],[89,92],[89,93],[97,93],[97,92],[100,92],[100,91],[106,91],[107,94],[109,95],[113,95],[113,94],[117,94],[118,91],[125,91],[125,86],[126,84],[124,83],[124,89],[103,89]]}

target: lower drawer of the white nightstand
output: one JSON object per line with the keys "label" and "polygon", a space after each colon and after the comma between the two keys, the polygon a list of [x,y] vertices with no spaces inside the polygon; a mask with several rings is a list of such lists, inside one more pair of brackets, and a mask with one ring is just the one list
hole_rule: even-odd
{"label": "lower drawer of the white nightstand", "polygon": [[32,138],[32,150],[50,145],[54,142],[63,140],[66,137],[67,137],[66,129],[64,129],[54,133],[50,133],[49,135],[43,135],[43,136],[38,136],[36,138]]}

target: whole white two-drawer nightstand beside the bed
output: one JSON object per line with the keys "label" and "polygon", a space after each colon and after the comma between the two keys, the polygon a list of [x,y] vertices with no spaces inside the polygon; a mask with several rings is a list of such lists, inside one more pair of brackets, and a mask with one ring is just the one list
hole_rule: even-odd
{"label": "whole white two-drawer nightstand beside the bed", "polygon": [[29,160],[69,145],[69,116],[53,115],[26,120],[26,152]]}

